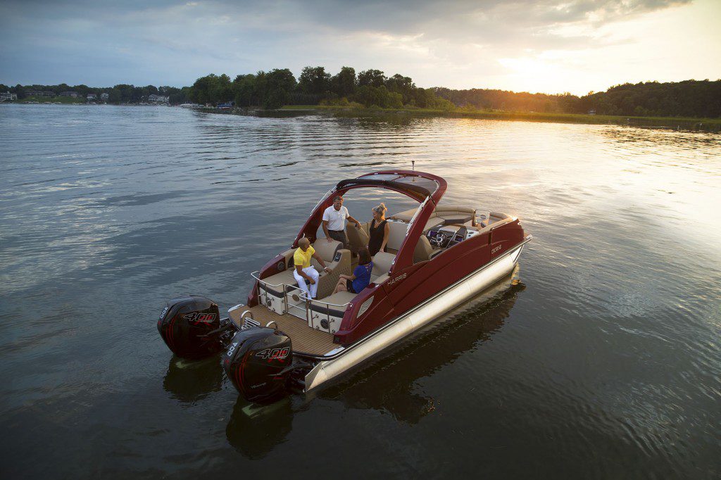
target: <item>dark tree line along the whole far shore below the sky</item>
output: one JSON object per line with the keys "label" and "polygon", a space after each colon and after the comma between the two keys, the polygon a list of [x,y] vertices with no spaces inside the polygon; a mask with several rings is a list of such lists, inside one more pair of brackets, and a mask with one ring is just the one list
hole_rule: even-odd
{"label": "dark tree line along the whole far shore below the sky", "polygon": [[231,79],[226,74],[210,74],[193,86],[134,86],[118,84],[92,88],[86,85],[6,86],[0,92],[16,93],[19,99],[30,92],[77,92],[108,94],[107,102],[134,104],[151,94],[169,97],[172,105],[195,102],[219,105],[234,102],[237,107],[276,109],[283,105],[337,105],[390,109],[502,110],[506,112],[589,113],[658,117],[721,117],[721,80],[657,81],[612,86],[606,92],[584,96],[531,94],[497,89],[447,89],[418,87],[408,76],[386,76],[369,69],[355,73],[344,66],[331,75],[322,66],[308,66],[296,80],[288,68],[242,74]]}

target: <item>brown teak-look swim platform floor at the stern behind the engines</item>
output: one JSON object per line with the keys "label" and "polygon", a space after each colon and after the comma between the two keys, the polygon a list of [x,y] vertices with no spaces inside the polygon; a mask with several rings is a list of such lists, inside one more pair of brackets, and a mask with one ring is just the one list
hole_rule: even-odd
{"label": "brown teak-look swim platform floor at the stern behind the engines", "polygon": [[240,314],[250,310],[253,319],[265,326],[269,321],[278,324],[278,330],[288,335],[293,344],[293,352],[309,353],[311,355],[325,355],[340,345],[333,343],[333,336],[327,332],[311,329],[303,319],[291,314],[278,315],[268,310],[265,306],[256,305],[251,308],[236,308],[229,313],[230,319],[240,326]]}

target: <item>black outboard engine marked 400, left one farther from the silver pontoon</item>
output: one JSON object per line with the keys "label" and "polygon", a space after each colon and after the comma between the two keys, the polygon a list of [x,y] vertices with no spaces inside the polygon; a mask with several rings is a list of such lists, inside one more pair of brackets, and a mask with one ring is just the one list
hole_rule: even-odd
{"label": "black outboard engine marked 400, left one farther from the silver pontoon", "polygon": [[223,350],[227,345],[223,327],[218,304],[194,295],[173,298],[158,320],[158,332],[165,345],[184,358],[207,357]]}

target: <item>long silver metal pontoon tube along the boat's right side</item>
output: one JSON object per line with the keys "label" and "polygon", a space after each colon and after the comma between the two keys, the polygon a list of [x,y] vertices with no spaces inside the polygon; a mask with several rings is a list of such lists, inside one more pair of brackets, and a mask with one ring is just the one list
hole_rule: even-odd
{"label": "long silver metal pontoon tube along the boat's right side", "polygon": [[497,257],[489,264],[466,275],[416,308],[390,321],[365,339],[361,339],[358,343],[319,361],[305,377],[306,393],[395,345],[399,340],[438,319],[438,316],[474,297],[505,275],[509,275],[516,267],[523,247],[530,240],[531,236],[526,237],[521,244],[506,252],[502,257]]}

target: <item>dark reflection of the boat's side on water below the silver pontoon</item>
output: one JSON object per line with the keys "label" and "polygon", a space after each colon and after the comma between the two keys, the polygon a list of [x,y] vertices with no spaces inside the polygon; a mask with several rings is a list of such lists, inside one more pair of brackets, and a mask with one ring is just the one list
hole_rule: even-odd
{"label": "dark reflection of the boat's side on water below the silver pontoon", "polygon": [[347,381],[325,389],[320,397],[337,399],[350,408],[389,412],[401,422],[415,424],[435,409],[434,400],[417,393],[415,382],[453,363],[478,347],[503,326],[518,294],[526,285],[516,273],[448,312],[430,329]]}

